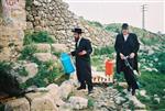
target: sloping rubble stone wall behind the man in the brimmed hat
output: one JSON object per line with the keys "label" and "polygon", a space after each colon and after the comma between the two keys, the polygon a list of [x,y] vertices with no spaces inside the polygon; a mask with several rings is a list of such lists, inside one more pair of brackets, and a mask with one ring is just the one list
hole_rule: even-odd
{"label": "sloping rubble stone wall behind the man in the brimmed hat", "polygon": [[70,12],[68,7],[62,0],[32,0],[26,7],[28,30],[47,31],[56,43],[72,44],[72,29],[78,26],[85,31],[82,36],[89,37],[95,46],[112,44],[110,33],[90,25]]}

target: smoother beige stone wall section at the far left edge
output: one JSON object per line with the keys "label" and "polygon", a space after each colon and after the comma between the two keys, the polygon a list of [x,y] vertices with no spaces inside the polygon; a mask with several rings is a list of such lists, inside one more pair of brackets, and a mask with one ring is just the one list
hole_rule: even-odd
{"label": "smoother beige stone wall section at the far left edge", "polygon": [[25,20],[25,0],[1,0],[0,60],[18,57],[23,44]]}

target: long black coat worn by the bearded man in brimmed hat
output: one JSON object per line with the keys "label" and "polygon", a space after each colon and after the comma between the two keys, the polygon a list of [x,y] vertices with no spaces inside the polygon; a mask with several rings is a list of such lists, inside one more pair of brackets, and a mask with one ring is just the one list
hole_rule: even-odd
{"label": "long black coat worn by the bearded man in brimmed hat", "polygon": [[[91,79],[91,66],[90,66],[90,54],[92,53],[91,43],[89,40],[81,38],[79,45],[75,46],[75,51],[72,52],[72,55],[76,57],[76,71],[77,78],[81,82],[84,80]],[[79,56],[78,53],[86,51],[87,54]]]}

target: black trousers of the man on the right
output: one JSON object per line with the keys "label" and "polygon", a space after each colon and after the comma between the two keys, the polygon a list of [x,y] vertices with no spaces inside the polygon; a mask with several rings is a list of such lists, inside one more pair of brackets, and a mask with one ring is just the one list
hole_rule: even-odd
{"label": "black trousers of the man on the right", "polygon": [[[128,60],[129,60],[131,67],[133,67],[133,60],[134,59],[128,59]],[[129,88],[132,88],[133,90],[139,89],[139,86],[138,86],[133,70],[130,67],[123,65],[123,74],[124,74],[124,78],[128,82]]]}

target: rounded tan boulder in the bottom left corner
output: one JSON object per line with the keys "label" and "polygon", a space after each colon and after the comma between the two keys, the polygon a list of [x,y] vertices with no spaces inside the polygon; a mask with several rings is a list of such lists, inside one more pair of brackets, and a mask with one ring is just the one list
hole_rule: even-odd
{"label": "rounded tan boulder in the bottom left corner", "polygon": [[30,103],[25,98],[8,101],[4,111],[30,111]]}

